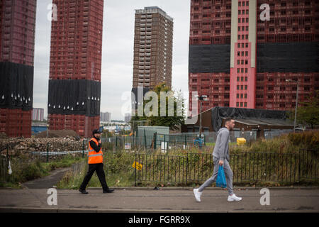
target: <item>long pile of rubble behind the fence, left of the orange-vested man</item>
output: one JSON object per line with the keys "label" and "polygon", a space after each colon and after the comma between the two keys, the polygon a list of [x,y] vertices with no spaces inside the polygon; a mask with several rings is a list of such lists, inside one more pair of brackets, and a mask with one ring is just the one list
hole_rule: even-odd
{"label": "long pile of rubble behind the fence, left of the orange-vested man", "polygon": [[1,155],[30,156],[31,152],[47,151],[71,151],[86,149],[83,140],[74,137],[65,138],[0,138]]}

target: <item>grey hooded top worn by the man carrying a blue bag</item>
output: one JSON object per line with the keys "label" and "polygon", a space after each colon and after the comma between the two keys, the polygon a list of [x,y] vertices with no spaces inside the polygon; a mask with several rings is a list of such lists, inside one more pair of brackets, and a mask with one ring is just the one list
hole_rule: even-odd
{"label": "grey hooded top worn by the man carrying a blue bag", "polygon": [[228,160],[229,162],[229,150],[228,150],[228,142],[229,142],[229,131],[227,128],[220,128],[217,133],[216,145],[213,150],[213,156],[217,157],[219,160]]}

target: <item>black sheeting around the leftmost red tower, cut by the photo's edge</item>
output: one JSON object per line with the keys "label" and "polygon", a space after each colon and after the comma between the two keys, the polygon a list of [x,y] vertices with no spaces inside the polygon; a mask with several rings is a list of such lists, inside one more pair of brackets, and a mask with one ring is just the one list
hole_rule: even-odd
{"label": "black sheeting around the leftmost red tower, cut by the photo's edge", "polygon": [[0,62],[0,107],[33,108],[33,66]]}

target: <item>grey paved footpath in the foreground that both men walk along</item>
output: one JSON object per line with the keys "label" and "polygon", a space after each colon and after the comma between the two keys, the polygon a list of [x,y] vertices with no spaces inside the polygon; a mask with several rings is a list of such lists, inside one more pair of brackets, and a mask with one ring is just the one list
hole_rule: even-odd
{"label": "grey paved footpath in the foreground that both men walk along", "polygon": [[206,188],[202,201],[191,188],[57,189],[57,206],[48,205],[47,189],[0,189],[0,212],[319,212],[319,188],[269,188],[270,205],[262,206],[260,188],[235,189],[242,201],[227,201],[227,191]]}

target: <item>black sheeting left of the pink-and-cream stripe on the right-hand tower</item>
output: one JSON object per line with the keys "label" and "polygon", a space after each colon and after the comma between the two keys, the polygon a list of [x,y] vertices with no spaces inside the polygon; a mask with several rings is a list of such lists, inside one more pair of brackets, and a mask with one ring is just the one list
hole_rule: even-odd
{"label": "black sheeting left of the pink-and-cream stripe on the right-hand tower", "polygon": [[230,72],[230,45],[189,45],[189,72]]}

